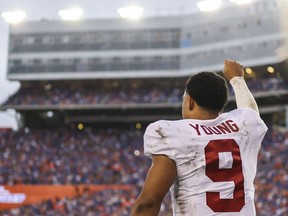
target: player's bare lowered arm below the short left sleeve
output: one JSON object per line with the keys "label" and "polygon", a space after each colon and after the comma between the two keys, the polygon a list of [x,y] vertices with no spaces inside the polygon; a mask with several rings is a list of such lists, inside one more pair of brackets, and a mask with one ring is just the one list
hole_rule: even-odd
{"label": "player's bare lowered arm below the short left sleeve", "polygon": [[152,166],[131,216],[157,216],[161,203],[176,179],[176,165],[164,155],[153,155]]}

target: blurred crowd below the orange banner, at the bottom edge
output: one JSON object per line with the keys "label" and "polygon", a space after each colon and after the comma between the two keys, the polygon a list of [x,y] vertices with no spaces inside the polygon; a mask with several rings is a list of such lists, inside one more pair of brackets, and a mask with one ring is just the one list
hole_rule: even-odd
{"label": "blurred crowd below the orange banner, at the bottom edge", "polygon": [[[86,191],[75,198],[46,200],[40,204],[26,205],[0,213],[3,216],[129,216],[139,189],[107,189],[94,193]],[[172,216],[171,212],[170,196],[166,196],[159,216]]]}

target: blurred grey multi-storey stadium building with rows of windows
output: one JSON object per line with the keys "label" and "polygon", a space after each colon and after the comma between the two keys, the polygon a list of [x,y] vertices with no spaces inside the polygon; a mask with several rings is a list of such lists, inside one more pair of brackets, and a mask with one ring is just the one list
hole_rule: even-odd
{"label": "blurred grey multi-storey stadium building with rows of windows", "polygon": [[211,14],[138,22],[46,20],[11,26],[7,76],[11,80],[181,77],[220,70],[225,58],[247,66],[281,62],[280,48],[287,36],[281,27],[281,4],[263,0]]}

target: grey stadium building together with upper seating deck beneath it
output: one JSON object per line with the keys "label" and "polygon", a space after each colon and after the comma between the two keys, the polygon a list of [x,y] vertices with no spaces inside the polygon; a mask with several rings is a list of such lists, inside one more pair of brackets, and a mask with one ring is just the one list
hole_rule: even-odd
{"label": "grey stadium building together with upper seating deck beneath it", "polygon": [[[21,81],[21,88],[0,110],[15,109],[24,125],[35,127],[175,119],[187,77],[219,72],[231,58],[252,68],[246,75],[262,114],[286,112],[284,4],[261,0],[136,22],[43,20],[11,26],[7,77]],[[268,66],[274,74],[267,73]]]}

